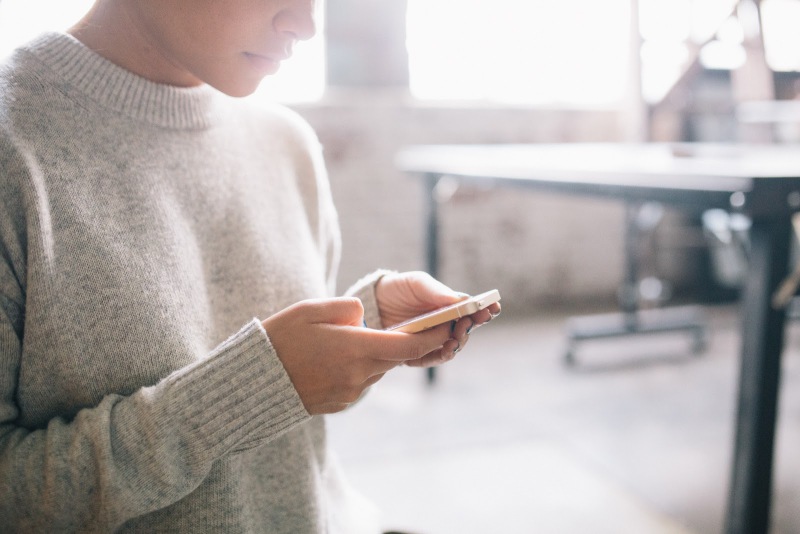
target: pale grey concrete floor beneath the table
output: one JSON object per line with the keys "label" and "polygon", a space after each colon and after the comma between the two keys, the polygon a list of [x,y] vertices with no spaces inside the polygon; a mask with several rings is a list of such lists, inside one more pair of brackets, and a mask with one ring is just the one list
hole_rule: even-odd
{"label": "pale grey concrete floor beneath the table", "polygon": [[[564,317],[503,314],[430,388],[387,375],[329,418],[386,528],[419,534],[722,532],[739,355],[735,306],[681,334],[591,341],[562,365]],[[787,330],[773,534],[800,532],[800,322]]]}

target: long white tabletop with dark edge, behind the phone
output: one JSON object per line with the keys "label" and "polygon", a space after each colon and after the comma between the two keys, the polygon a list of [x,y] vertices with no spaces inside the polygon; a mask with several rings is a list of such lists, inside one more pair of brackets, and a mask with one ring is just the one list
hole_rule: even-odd
{"label": "long white tabletop with dark edge, behind the phone", "polygon": [[557,192],[661,201],[752,216],[800,211],[800,146],[710,143],[419,145],[406,172]]}

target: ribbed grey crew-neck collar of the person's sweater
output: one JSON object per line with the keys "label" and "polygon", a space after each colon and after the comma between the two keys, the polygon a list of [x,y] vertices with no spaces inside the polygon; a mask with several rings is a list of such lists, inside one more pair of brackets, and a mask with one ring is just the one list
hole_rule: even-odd
{"label": "ribbed grey crew-neck collar of the person's sweater", "polygon": [[184,88],[151,82],[66,33],[46,33],[27,49],[68,85],[133,119],[178,129],[214,123],[214,102],[221,93],[209,86]]}

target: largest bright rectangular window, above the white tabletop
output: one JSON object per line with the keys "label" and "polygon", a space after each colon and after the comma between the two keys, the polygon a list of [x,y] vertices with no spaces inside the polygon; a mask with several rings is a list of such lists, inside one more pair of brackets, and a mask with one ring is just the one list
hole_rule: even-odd
{"label": "largest bright rectangular window, above the white tabletop", "polygon": [[618,104],[630,0],[408,0],[411,92],[427,100]]}

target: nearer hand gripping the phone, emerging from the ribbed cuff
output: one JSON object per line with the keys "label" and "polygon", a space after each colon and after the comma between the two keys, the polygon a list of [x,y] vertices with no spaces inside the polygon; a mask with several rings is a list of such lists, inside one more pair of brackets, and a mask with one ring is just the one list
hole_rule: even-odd
{"label": "nearer hand gripping the phone, emerging from the ribbed cuff", "polygon": [[383,375],[444,346],[449,323],[417,334],[363,326],[356,298],[305,300],[263,321],[272,346],[312,415],[344,410]]}

